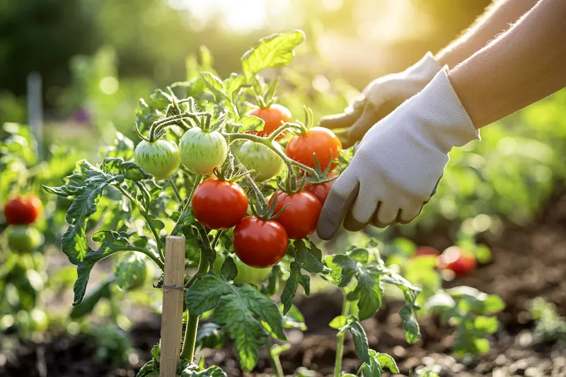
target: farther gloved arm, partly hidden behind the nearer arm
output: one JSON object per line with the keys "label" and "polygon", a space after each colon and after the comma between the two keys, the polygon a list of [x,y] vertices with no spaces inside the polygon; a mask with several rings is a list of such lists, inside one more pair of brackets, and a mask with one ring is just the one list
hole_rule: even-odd
{"label": "farther gloved arm, partly hidden behind the nearer arm", "polygon": [[480,50],[487,42],[509,28],[538,0],[495,1],[478,18],[466,33],[458,37],[436,56],[427,53],[419,62],[397,74],[388,74],[371,81],[350,106],[337,115],[323,117],[322,127],[345,129],[336,134],[345,148],[362,139],[367,130],[376,122],[398,108],[408,98],[415,95],[429,83],[441,66],[453,68],[456,64]]}

